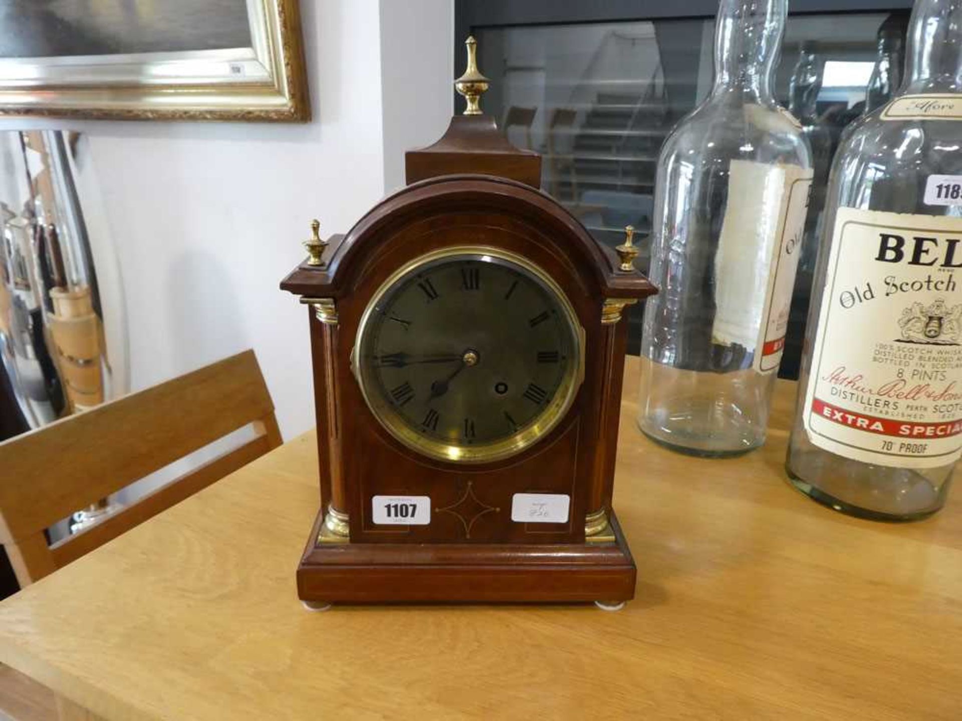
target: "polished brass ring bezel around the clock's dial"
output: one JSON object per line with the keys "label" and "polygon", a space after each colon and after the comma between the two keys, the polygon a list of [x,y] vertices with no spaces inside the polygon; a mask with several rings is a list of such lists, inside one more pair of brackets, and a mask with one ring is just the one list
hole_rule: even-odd
{"label": "polished brass ring bezel around the clock's dial", "polygon": [[[535,423],[521,429],[519,433],[509,438],[486,445],[459,446],[419,435],[403,420],[400,413],[394,410],[379,394],[368,392],[365,370],[360,367],[360,363],[357,360],[357,355],[361,352],[360,349],[364,348],[371,315],[381,302],[381,299],[396,286],[398,282],[410,276],[412,273],[417,272],[418,269],[423,266],[429,263],[448,261],[458,257],[464,257],[466,260],[475,258],[480,261],[484,261],[485,257],[490,257],[496,261],[512,263],[518,266],[519,270],[527,273],[536,282],[541,284],[545,290],[552,293],[558,299],[567,317],[574,351],[572,355],[577,359],[576,364],[566,373],[562,385],[558,388],[558,392],[554,394],[554,398],[544,408]],[[500,248],[486,245],[459,245],[442,248],[441,250],[419,256],[394,271],[391,276],[378,287],[368,302],[367,309],[365,309],[364,314],[361,316],[354,349],[351,351],[351,357],[354,377],[361,389],[361,395],[364,397],[365,403],[367,403],[367,408],[370,409],[371,413],[373,413],[374,417],[384,429],[401,444],[433,460],[444,460],[453,463],[490,463],[496,460],[511,458],[530,448],[533,444],[551,433],[568,414],[571,405],[574,403],[578,388],[580,388],[584,382],[585,331],[579,323],[577,313],[574,311],[574,307],[571,305],[565,291],[538,265],[516,253]]]}

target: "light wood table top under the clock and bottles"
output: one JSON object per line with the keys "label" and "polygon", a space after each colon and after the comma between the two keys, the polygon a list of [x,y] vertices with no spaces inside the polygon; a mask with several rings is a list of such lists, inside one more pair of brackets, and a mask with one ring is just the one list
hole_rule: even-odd
{"label": "light wood table top under the clock and bottles", "polygon": [[794,385],[737,460],[657,448],[629,363],[616,509],[638,563],[594,607],[303,609],[303,435],[0,604],[0,660],[107,719],[962,718],[962,490],[913,525],[784,481]]}

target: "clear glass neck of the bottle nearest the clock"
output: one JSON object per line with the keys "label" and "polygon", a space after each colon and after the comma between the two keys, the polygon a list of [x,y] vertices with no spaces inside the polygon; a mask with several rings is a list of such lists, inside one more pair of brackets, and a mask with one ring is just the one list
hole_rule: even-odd
{"label": "clear glass neck of the bottle nearest the clock", "polygon": [[772,74],[787,15],[788,0],[722,0],[715,31],[713,95],[738,92],[759,101],[773,100]]}

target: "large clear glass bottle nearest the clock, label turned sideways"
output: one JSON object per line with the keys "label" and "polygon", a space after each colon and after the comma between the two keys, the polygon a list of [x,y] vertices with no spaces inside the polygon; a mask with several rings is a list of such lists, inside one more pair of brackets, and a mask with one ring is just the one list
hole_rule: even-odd
{"label": "large clear glass bottle nearest the clock, label turned sideways", "polygon": [[787,14],[787,0],[722,0],[715,86],[658,163],[639,425],[686,453],[765,440],[812,174],[772,94]]}

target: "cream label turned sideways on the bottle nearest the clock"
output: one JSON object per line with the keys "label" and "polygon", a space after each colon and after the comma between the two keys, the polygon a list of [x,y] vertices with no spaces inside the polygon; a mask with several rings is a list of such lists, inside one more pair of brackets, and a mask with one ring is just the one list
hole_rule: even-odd
{"label": "cream label turned sideways on the bottle nearest the clock", "polygon": [[733,161],[715,256],[714,342],[740,345],[763,373],[785,347],[812,171]]}

